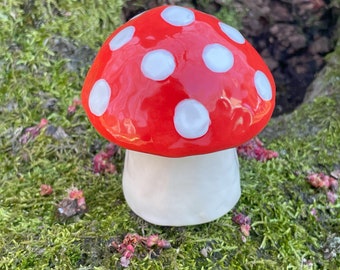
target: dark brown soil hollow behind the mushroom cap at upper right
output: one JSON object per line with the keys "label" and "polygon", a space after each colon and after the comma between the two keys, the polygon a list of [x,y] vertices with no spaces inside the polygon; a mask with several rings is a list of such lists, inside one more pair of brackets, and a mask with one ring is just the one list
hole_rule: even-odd
{"label": "dark brown soil hollow behind the mushroom cap at upper right", "polygon": [[328,0],[128,0],[126,20],[162,4],[216,13],[233,3],[242,16],[241,31],[265,59],[277,86],[274,116],[293,111],[305,96],[324,56],[334,49],[339,9]]}

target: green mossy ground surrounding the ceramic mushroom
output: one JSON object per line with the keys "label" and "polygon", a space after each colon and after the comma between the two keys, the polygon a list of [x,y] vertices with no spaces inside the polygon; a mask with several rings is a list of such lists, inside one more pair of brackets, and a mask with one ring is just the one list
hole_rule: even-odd
{"label": "green mossy ground surrounding the ceramic mushroom", "polygon": [[[270,136],[261,139],[279,158],[240,159],[243,193],[235,210],[252,219],[246,242],[231,213],[183,228],[154,226],[135,216],[121,190],[122,157],[117,175],[93,174],[92,158],[106,142],[83,110],[68,116],[67,108],[79,96],[90,64],[84,60],[81,66],[72,57],[78,48],[96,51],[120,23],[122,1],[106,3],[0,4],[0,269],[119,269],[119,254],[107,246],[126,233],[159,234],[172,245],[152,258],[139,250],[130,269],[337,269],[339,200],[330,204],[306,175],[339,169],[339,89],[270,123]],[[55,50],[56,44],[74,46],[73,54]],[[22,129],[43,117],[68,137],[42,132],[20,144]],[[41,184],[52,185],[54,193],[42,197]],[[71,186],[84,191],[89,211],[60,222],[55,205]],[[335,256],[325,256],[334,246]],[[200,251],[207,247],[205,257]]]}

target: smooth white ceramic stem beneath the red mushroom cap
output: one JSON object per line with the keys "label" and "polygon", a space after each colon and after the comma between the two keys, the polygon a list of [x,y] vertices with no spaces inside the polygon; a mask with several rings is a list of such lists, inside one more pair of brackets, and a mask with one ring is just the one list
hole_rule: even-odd
{"label": "smooth white ceramic stem beneath the red mushroom cap", "polygon": [[131,209],[153,224],[212,221],[240,198],[236,149],[182,158],[126,150],[123,190]]}

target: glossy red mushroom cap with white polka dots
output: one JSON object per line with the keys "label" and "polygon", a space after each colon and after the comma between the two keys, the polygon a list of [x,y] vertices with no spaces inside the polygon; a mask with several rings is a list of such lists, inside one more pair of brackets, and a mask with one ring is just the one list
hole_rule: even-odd
{"label": "glossy red mushroom cap with white polka dots", "polygon": [[274,79],[235,28],[161,6],[104,42],[82,90],[93,126],[127,149],[168,157],[238,146],[268,123]]}

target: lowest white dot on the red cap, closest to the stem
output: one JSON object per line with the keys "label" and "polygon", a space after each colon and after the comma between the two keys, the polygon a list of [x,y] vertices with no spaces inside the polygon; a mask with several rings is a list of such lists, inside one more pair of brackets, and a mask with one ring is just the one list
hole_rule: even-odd
{"label": "lowest white dot on the red cap, closest to the stem", "polygon": [[210,117],[207,109],[195,99],[184,99],[175,108],[176,131],[186,139],[196,139],[209,129]]}

